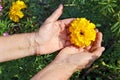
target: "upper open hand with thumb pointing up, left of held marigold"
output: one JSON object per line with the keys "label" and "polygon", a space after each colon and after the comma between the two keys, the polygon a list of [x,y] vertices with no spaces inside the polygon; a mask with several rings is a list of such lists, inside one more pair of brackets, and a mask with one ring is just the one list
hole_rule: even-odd
{"label": "upper open hand with thumb pointing up, left of held marigold", "polygon": [[58,20],[62,15],[63,5],[60,5],[53,14],[46,19],[35,34],[37,54],[48,54],[62,49],[66,45],[66,27],[74,18]]}

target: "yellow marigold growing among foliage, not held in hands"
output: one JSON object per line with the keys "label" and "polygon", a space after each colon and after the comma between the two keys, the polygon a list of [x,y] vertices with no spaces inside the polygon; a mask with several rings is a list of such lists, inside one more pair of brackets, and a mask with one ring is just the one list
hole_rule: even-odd
{"label": "yellow marigold growing among foliage, not held in hands", "polygon": [[9,11],[10,19],[14,22],[19,22],[19,18],[23,18],[24,14],[21,9],[26,8],[26,5],[23,1],[16,1],[12,3],[12,6]]}

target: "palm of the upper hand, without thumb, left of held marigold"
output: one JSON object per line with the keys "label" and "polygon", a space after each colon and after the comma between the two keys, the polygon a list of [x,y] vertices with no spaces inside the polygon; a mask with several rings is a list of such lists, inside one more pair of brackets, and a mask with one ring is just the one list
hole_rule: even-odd
{"label": "palm of the upper hand, without thumb, left of held marigold", "polygon": [[41,43],[38,53],[47,54],[57,51],[65,46],[67,33],[65,24],[62,21],[45,23],[38,33],[38,41]]}

